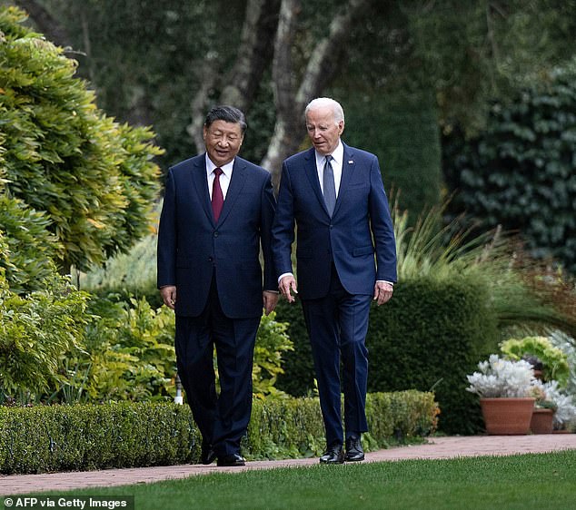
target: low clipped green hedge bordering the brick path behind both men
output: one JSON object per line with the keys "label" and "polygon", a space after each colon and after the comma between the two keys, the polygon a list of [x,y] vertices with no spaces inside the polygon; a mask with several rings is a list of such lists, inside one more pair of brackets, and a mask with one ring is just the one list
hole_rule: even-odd
{"label": "low clipped green hedge bordering the brick path behind both men", "polygon": [[[367,449],[435,430],[432,393],[370,395]],[[187,406],[0,407],[0,473],[169,466],[198,462],[201,436]],[[243,454],[250,459],[318,455],[324,448],[316,398],[258,400]]]}

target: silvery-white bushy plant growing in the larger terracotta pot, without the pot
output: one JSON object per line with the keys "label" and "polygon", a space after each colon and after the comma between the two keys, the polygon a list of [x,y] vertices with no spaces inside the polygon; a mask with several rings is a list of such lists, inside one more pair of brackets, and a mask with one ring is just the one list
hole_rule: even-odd
{"label": "silvery-white bushy plant growing in the larger terracotta pot, without the pot", "polygon": [[512,361],[492,354],[478,364],[479,372],[466,376],[467,391],[483,398],[531,397],[534,370],[528,361]]}

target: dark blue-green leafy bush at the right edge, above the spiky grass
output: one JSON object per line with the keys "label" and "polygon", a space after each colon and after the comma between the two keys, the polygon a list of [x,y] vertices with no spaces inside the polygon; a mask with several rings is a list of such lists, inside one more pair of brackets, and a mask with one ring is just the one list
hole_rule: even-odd
{"label": "dark blue-green leafy bush at the right edge, above the spiky grass", "polygon": [[576,270],[576,61],[510,104],[494,103],[478,137],[448,138],[452,210],[518,230],[531,255]]}

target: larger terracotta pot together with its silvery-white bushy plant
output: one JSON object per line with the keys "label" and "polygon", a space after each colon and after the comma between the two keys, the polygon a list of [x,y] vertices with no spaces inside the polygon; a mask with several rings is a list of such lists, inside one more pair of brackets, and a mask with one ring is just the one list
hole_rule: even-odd
{"label": "larger terracotta pot together with its silvery-white bushy plant", "polygon": [[535,397],[534,373],[528,361],[492,354],[478,364],[480,371],[466,376],[466,389],[480,397],[486,432],[492,435],[528,434]]}

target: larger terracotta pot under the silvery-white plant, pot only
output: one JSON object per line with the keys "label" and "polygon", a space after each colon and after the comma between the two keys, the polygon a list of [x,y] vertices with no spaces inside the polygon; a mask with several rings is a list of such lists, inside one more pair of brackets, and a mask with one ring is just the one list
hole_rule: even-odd
{"label": "larger terracotta pot under the silvery-white plant, pot only", "polygon": [[481,398],[486,432],[492,436],[528,434],[535,398]]}

